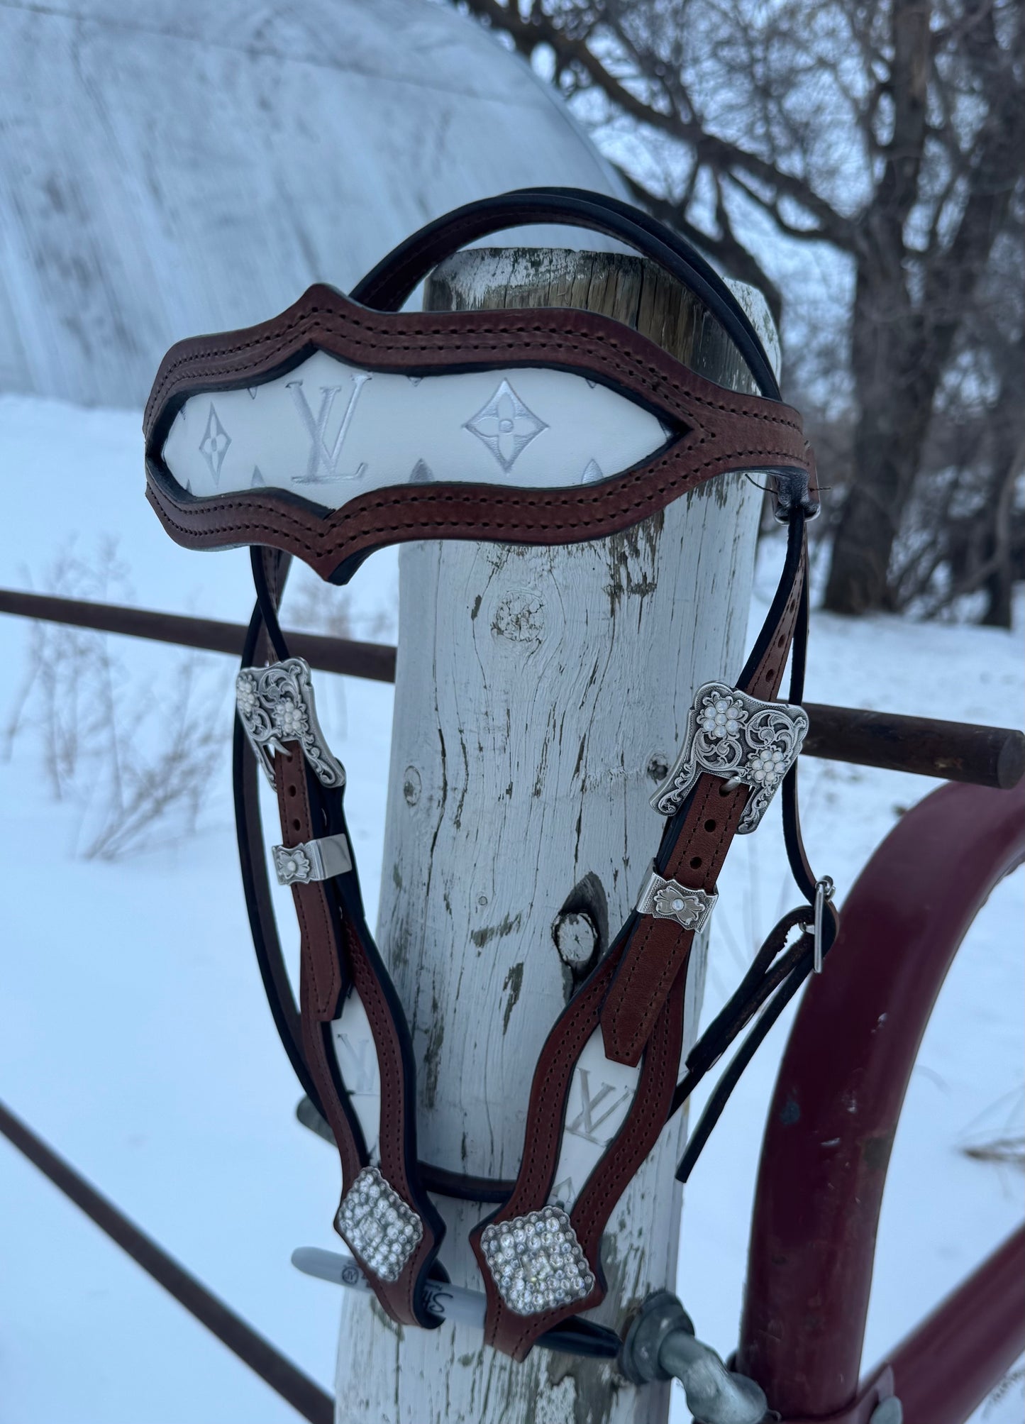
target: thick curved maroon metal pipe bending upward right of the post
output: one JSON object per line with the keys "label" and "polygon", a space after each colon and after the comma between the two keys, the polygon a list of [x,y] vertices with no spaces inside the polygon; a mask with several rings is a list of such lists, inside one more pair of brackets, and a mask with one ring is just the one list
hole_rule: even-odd
{"label": "thick curved maroon metal pipe bending upward right of the post", "polygon": [[1025,786],[940,787],[863,870],[826,973],[804,994],[762,1145],[737,1351],[784,1418],[839,1414],[856,1397],[883,1186],[918,1044],[965,931],[1024,859]]}

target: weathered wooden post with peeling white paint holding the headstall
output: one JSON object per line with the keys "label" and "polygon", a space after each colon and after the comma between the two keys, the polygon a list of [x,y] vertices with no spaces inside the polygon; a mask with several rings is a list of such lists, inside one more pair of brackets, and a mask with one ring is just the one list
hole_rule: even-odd
{"label": "weathered wooden post with peeling white paint holding the headstall", "polygon": [[[772,352],[764,302],[740,295]],[[720,384],[755,389],[700,303],[639,258],[471,251],[433,273],[426,302],[584,306]],[[403,547],[377,943],[414,1035],[426,1161],[515,1176],[538,1051],[635,901],[661,834],[648,799],[692,692],[742,666],[760,500],[735,474],[569,548]],[[686,1045],[703,971],[695,953]],[[592,1079],[569,1104],[568,1131],[584,1136],[615,1106]],[[648,1292],[675,1286],[682,1128],[666,1131],[609,1222],[599,1319],[616,1327]],[[493,1208],[438,1208],[441,1259],[480,1290],[467,1233]],[[638,1390],[609,1366],[541,1349],[515,1364],[467,1327],[401,1330],[364,1296],[343,1296],[339,1424],[668,1418],[666,1386]]]}

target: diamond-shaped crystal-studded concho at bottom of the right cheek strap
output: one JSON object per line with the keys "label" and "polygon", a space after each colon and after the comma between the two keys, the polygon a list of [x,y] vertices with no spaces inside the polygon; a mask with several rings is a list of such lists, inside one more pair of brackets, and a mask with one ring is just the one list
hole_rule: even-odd
{"label": "diamond-shaped crystal-studded concho at bottom of the right cheek strap", "polygon": [[594,1290],[577,1232],[558,1206],[485,1226],[481,1250],[498,1294],[518,1316],[544,1314]]}

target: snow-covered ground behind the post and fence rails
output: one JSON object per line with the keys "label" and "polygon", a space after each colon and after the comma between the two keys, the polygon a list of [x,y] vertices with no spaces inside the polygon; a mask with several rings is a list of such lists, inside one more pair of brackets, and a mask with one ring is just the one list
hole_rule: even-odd
{"label": "snow-covered ground behind the post and fence rails", "polygon": [[[135,413],[0,397],[0,585],[56,584],[80,597],[242,619],[252,598],[245,554],[199,558],[167,540],[142,497],[138,424]],[[766,567],[753,618],[770,578]],[[327,607],[306,571],[289,598],[293,624],[316,622]],[[394,598],[394,553],[377,555],[345,605],[349,627],[393,637]],[[289,1255],[296,1245],[337,1245],[336,1166],[295,1121],[299,1089],[252,958],[231,824],[231,664],[134,639],[68,641],[16,618],[0,618],[0,656],[9,827],[0,1098],[333,1388],[337,1293],[299,1276]],[[77,689],[78,745],[51,726],[46,678],[26,686],[33,658],[54,669],[65,695]],[[1024,681],[1019,631],[814,619],[809,701],[1019,725]],[[373,903],[391,689],[326,676],[317,686],[329,684],[323,719],[349,768],[352,830]],[[199,756],[211,726],[214,793],[188,837],[159,839],[182,824],[182,807],[172,807],[148,849],[84,859],[108,816],[108,705],[120,709],[122,758],[154,756],[157,731],[165,738],[175,719],[195,728]],[[806,840],[840,897],[901,809],[935,785],[811,760],[801,775]],[[921,1049],[883,1208],[866,1366],[1022,1215],[1021,1169],[962,1151],[1022,1134],[1022,883],[1018,871],[991,897]],[[720,890],[706,1017],[792,901],[774,827],[736,843]],[[784,1035],[779,1025],[742,1081],[688,1189],[679,1290],[699,1334],[723,1353],[736,1337],[762,1121]],[[979,1418],[1011,1424],[1021,1414],[1016,1384]],[[295,1417],[0,1139],[0,1424]],[[678,1397],[673,1418],[685,1417]]]}

